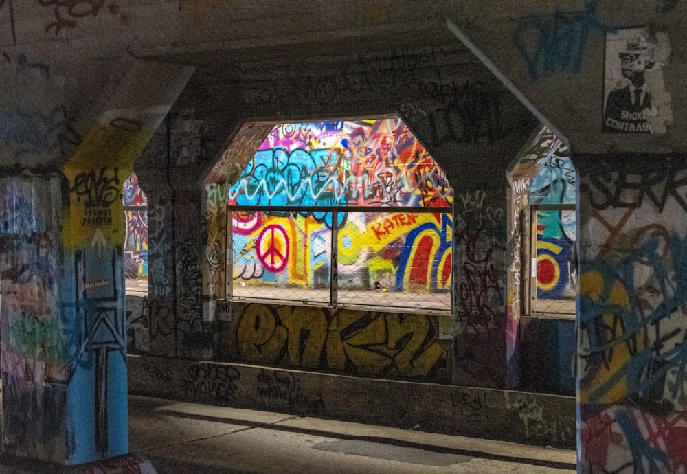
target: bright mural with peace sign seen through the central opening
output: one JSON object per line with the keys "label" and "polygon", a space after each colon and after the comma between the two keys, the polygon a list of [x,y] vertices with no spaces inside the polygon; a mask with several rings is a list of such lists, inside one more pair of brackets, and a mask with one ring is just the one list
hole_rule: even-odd
{"label": "bright mural with peace sign seen through the central opening", "polygon": [[234,206],[235,291],[328,288],[337,227],[341,289],[450,293],[453,190],[398,118],[274,126],[233,185],[207,185],[207,200]]}

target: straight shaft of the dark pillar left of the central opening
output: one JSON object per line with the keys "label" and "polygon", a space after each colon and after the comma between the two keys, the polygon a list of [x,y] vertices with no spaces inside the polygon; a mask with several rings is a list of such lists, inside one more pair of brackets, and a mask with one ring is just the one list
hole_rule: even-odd
{"label": "straight shaft of the dark pillar left of the central opening", "polygon": [[212,359],[214,331],[203,292],[205,227],[202,186],[170,182],[166,173],[141,173],[148,195],[150,352]]}

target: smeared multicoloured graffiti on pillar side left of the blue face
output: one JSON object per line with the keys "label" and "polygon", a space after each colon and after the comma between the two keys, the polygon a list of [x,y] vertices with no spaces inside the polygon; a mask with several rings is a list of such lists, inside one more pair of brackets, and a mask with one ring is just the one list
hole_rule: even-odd
{"label": "smeared multicoloured graffiti on pillar side left of the blue face", "polygon": [[[3,446],[41,458],[66,455],[71,328],[60,300],[58,176],[0,180]],[[11,407],[11,409],[10,409]]]}

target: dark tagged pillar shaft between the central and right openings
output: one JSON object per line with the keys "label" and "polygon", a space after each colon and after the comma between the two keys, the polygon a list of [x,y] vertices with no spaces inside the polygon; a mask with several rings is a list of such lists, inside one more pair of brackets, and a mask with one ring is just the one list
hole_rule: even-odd
{"label": "dark tagged pillar shaft between the central and right openings", "polygon": [[455,206],[458,275],[453,383],[506,385],[506,191],[460,188]]}

